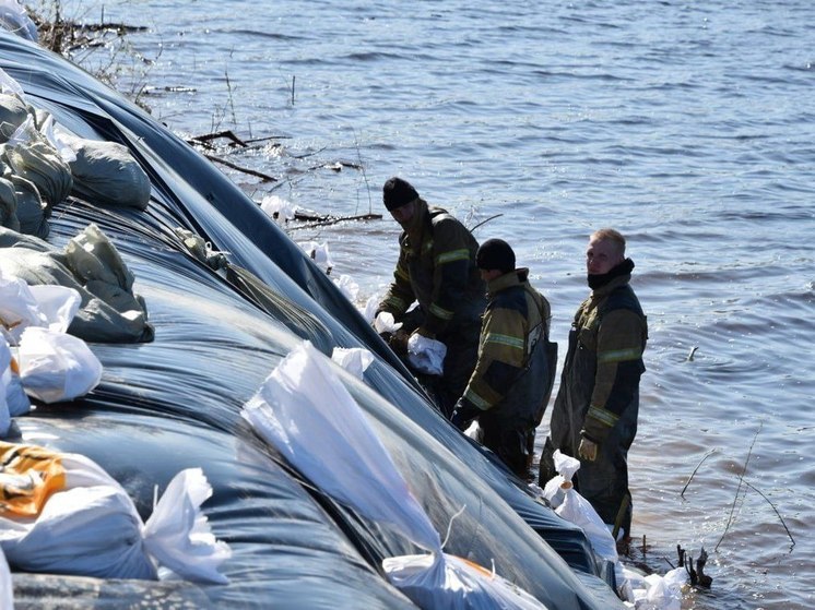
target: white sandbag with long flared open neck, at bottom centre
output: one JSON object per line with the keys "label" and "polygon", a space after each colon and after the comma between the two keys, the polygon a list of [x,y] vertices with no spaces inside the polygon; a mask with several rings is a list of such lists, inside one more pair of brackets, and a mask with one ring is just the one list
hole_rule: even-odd
{"label": "white sandbag with long flared open neck, at bottom centre", "polygon": [[382,562],[390,582],[421,608],[545,610],[493,572],[442,552],[367,416],[310,343],[283,359],[241,416],[321,491],[429,551]]}

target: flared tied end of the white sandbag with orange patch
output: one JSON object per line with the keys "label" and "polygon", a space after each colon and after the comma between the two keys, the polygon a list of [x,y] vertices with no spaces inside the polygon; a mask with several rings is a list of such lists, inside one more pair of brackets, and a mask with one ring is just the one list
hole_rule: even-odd
{"label": "flared tied end of the white sandbag with orange patch", "polygon": [[212,497],[201,468],[176,475],[144,525],[144,545],[161,565],[193,582],[225,585],[218,566],[232,557],[226,542],[215,539],[200,507]]}

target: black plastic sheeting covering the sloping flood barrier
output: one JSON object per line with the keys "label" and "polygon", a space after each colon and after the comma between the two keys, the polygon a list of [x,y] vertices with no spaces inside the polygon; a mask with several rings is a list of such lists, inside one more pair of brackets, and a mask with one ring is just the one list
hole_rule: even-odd
{"label": "black plastic sheeting covering the sloping flood barrier", "polygon": [[[154,486],[200,466],[214,489],[204,513],[233,549],[224,586],[14,573],[17,608],[413,608],[380,562],[421,551],[304,481],[239,416],[303,339],[327,355],[335,346],[377,355],[364,382],[342,380],[442,537],[466,506],[447,552],[494,564],[552,610],[623,607],[595,576],[582,533],[444,420],[353,304],[210,162],[35,45],[0,34],[0,67],[59,124],[127,145],[152,182],[146,212],[70,198],[55,208],[48,241],[61,249],[97,224],[134,274],[155,339],[91,344],[104,366],[99,386],[17,418],[12,440],[91,457],[143,518]],[[176,227],[227,252],[228,278],[191,256]]]}

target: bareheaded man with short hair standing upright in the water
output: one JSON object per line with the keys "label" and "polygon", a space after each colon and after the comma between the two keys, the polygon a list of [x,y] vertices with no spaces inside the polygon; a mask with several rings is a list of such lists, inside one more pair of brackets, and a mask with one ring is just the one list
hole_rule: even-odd
{"label": "bareheaded man with short hair standing upright in the water", "polygon": [[613,534],[631,531],[628,448],[637,433],[639,379],[648,326],[629,286],[634,262],[614,229],[594,231],[586,250],[591,294],[569,333],[560,387],[552,409],[540,483],[555,476],[552,453],[580,458],[576,489]]}

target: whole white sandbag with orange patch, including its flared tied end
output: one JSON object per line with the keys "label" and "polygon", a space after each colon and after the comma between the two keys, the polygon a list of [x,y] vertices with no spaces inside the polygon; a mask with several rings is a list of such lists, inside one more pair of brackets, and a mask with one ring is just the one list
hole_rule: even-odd
{"label": "whole white sandbag with orange patch, including its flared tied end", "polygon": [[226,582],[215,569],[228,547],[212,537],[200,513],[211,493],[200,469],[182,470],[170,481],[169,495],[149,521],[149,545],[147,526],[130,497],[87,457],[0,442],[0,548],[17,569],[156,579],[160,560],[152,548],[161,549],[160,563],[174,574]]}

